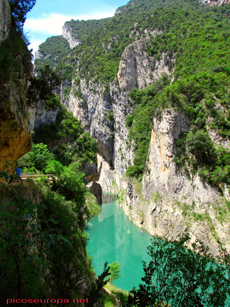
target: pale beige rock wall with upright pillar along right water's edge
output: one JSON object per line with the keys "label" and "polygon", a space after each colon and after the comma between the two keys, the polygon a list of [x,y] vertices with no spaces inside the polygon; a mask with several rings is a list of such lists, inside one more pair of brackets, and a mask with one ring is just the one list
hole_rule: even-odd
{"label": "pale beige rock wall with upright pillar along right water's edge", "polygon": [[218,242],[230,247],[230,223],[221,221],[218,213],[225,208],[229,217],[227,207],[216,188],[179,170],[174,162],[174,142],[180,131],[188,131],[188,123],[185,115],[173,109],[153,120],[143,181],[124,180],[120,205],[151,234],[176,239],[187,231],[191,242],[199,239],[218,254]]}

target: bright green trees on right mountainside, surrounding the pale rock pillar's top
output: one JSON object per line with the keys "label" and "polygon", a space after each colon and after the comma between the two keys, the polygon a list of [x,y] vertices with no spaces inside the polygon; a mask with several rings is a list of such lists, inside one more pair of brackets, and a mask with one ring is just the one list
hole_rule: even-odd
{"label": "bright green trees on right mountainside, surrounding the pale rock pillar's top", "polygon": [[[163,31],[153,38],[149,54],[159,60],[163,52],[167,53],[167,64],[174,67],[176,80],[169,86],[163,78],[161,91],[163,87],[165,89],[162,93],[153,91],[154,85],[146,90],[131,91],[130,97],[136,107],[132,121],[129,116],[126,123],[130,126],[129,136],[135,142],[135,158],[126,174],[142,179],[151,118],[160,117],[165,108],[173,107],[186,113],[191,120],[190,133],[181,134],[176,142],[178,166],[189,165],[192,173],[199,172],[200,177],[210,183],[229,184],[230,152],[214,146],[206,123],[211,121],[210,128],[217,130],[221,137],[229,138],[230,42],[227,34],[229,19],[226,17],[229,7],[215,8],[214,12],[192,2],[176,3],[177,9],[174,4],[168,5],[156,10],[143,28],[154,25]],[[215,107],[217,104],[222,107]]]}

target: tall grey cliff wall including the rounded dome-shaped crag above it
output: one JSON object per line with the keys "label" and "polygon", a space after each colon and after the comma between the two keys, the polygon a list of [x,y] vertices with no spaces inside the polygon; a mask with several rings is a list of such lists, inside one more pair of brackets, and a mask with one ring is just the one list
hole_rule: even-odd
{"label": "tall grey cliff wall including the rounded dome-shaped crag above it", "polygon": [[[155,34],[153,31],[151,35]],[[117,76],[119,86],[110,85],[108,90],[103,84],[92,81],[87,84],[81,79],[80,84],[72,81],[67,99],[63,89],[61,91],[62,103],[98,142],[99,183],[103,190],[112,191],[112,183],[120,186],[127,167],[133,162],[132,145],[127,148],[128,128],[125,125],[133,106],[126,90],[134,86],[143,89],[163,73],[170,74],[164,54],[153,66],[153,58],[145,51],[149,44],[150,38],[141,38],[125,49]]]}

